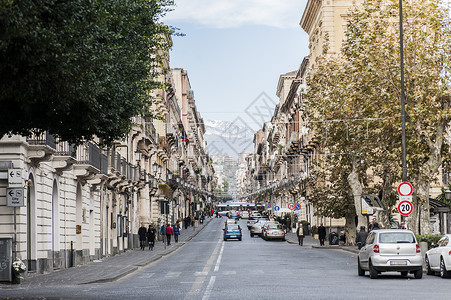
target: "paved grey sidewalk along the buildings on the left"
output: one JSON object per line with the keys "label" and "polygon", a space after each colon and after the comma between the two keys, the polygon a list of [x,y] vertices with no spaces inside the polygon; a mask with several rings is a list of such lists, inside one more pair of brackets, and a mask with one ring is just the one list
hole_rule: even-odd
{"label": "paved grey sidewalk along the buildings on the left", "polygon": [[153,251],[148,250],[127,250],[119,255],[106,257],[100,261],[90,262],[86,265],[62,269],[48,274],[36,274],[26,277],[20,285],[9,283],[1,284],[0,289],[11,286],[28,288],[32,286],[52,286],[52,285],[80,285],[89,283],[112,282],[124,277],[139,267],[146,266],[165,255],[168,255],[186,242],[194,238],[202,229],[207,226],[213,218],[206,218],[198,228],[188,227],[180,231],[179,242],[175,243],[174,238],[170,246],[164,246],[162,241],[157,241]]}

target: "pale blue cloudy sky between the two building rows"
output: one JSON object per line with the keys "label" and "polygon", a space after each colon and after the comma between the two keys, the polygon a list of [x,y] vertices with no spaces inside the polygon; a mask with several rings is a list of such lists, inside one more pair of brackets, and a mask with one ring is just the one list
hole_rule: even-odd
{"label": "pale blue cloudy sky between the two building rows", "polygon": [[297,70],[308,55],[299,26],[307,0],[176,0],[163,22],[185,36],[173,37],[172,68],[187,70],[204,120],[262,127],[262,101],[272,110],[281,74]]}

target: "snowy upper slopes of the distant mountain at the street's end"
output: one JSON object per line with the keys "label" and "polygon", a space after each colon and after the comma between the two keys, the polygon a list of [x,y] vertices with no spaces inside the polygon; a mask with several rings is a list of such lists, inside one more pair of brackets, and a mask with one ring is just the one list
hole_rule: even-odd
{"label": "snowy upper slopes of the distant mountain at the street's end", "polygon": [[253,151],[254,130],[241,118],[233,122],[205,120],[204,125],[209,154],[238,158],[242,152]]}

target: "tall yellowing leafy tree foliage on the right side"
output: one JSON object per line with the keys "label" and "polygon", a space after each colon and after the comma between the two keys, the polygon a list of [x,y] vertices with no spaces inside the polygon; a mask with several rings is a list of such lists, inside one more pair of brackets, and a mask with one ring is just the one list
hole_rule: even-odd
{"label": "tall yellowing leafy tree foliage on the right side", "polygon": [[[405,1],[407,162],[416,194],[409,220],[423,233],[429,224],[429,184],[442,162],[450,120],[449,11],[439,1]],[[315,132],[326,133],[351,167],[348,182],[359,215],[364,189],[383,190],[389,203],[401,179],[401,112],[397,0],[368,0],[348,17],[342,53],[324,56],[312,71],[307,96]],[[332,121],[333,120],[333,121]],[[369,185],[372,177],[374,184]],[[386,207],[389,215],[389,207]],[[360,222],[360,221],[359,221]]]}

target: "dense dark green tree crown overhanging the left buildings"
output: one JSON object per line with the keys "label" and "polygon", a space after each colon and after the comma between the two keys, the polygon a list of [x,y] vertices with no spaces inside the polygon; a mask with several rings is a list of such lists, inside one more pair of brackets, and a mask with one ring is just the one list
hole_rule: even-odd
{"label": "dense dark green tree crown overhanging the left buildings", "polygon": [[4,0],[0,136],[111,142],[149,114],[172,0]]}

